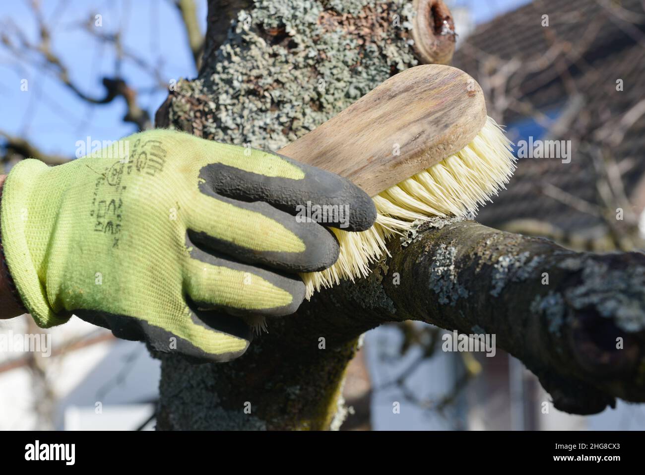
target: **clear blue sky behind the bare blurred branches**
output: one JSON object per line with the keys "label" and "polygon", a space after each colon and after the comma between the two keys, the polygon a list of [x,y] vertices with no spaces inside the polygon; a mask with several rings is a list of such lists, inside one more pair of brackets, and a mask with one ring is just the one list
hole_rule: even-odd
{"label": "clear blue sky behind the bare blurred branches", "polygon": [[[166,81],[194,77],[196,72],[188,50],[179,15],[169,0],[46,0],[43,17],[52,28],[52,50],[68,67],[72,81],[92,97],[101,97],[103,76],[115,76],[114,48],[87,34],[81,23],[95,14],[102,15],[101,31],[121,30],[126,50],[148,63],[157,65]],[[197,0],[203,28],[206,0]],[[469,6],[477,23],[488,21],[527,0],[456,0],[454,5]],[[35,43],[37,23],[26,0],[3,1],[0,6],[0,32],[8,32],[9,23],[19,26]],[[13,35],[12,35],[13,36]],[[109,105],[92,107],[79,100],[55,79],[43,72],[37,56],[15,59],[0,47],[0,131],[29,139],[45,152],[74,156],[75,143],[93,139],[117,139],[135,131],[123,123],[126,112],[122,99]],[[121,70],[132,85],[143,91],[141,106],[154,116],[166,94],[155,88],[154,77],[132,61]],[[21,90],[27,79],[28,90]]]}

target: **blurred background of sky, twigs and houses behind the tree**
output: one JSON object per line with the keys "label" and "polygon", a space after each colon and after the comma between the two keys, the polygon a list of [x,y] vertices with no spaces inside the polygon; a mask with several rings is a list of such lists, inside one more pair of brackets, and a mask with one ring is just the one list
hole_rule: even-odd
{"label": "blurred background of sky, twigs and houses behind the tree", "polygon": [[[477,79],[521,155],[477,220],[575,250],[642,250],[645,3],[446,3],[459,35],[452,64]],[[205,28],[206,0],[3,2],[0,172],[25,157],[64,163],[79,139],[152,126],[168,87],[196,76]],[[521,151],[550,140],[570,144],[570,157]],[[159,363],[143,343],[77,318],[50,330],[0,321],[7,338],[43,332],[50,355],[0,350],[0,429],[154,429]],[[342,429],[645,429],[645,408],[622,402],[596,416],[559,412],[517,359],[443,352],[444,334],[412,322],[368,332]]]}

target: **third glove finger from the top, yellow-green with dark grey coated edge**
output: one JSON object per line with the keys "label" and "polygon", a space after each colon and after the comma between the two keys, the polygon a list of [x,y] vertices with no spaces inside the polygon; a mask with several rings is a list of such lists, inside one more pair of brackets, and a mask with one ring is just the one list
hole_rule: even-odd
{"label": "third glove finger from the top, yellow-green with dark grey coated edge", "polygon": [[295,312],[304,299],[304,283],[296,276],[214,256],[190,241],[189,249],[184,291],[200,310],[284,316]]}

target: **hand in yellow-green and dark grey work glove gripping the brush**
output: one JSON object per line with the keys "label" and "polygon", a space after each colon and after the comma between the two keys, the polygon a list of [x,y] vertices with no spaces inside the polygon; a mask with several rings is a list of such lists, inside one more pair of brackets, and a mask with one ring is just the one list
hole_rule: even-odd
{"label": "hand in yellow-green and dark grey work glove gripping the brush", "polygon": [[332,233],[299,222],[297,205],[349,205],[348,230],[376,217],[335,174],[182,132],[134,134],[94,155],[26,159],[5,182],[6,261],[41,327],[75,314],[155,350],[228,361],[252,339],[239,316],[292,314],[297,272],[338,257]]}

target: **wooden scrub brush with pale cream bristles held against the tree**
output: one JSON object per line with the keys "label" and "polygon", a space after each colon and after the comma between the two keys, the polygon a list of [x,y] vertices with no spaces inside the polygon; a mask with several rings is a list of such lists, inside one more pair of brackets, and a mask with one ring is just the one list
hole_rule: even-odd
{"label": "wooden scrub brush with pale cream bristles held against the tree", "polygon": [[330,228],[339,259],[301,274],[307,298],[341,279],[368,276],[370,263],[388,253],[386,241],[415,221],[475,214],[515,170],[511,143],[487,116],[480,86],[444,65],[390,77],[278,153],[351,179],[378,212],[364,232]]}

